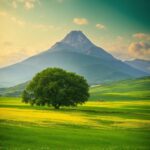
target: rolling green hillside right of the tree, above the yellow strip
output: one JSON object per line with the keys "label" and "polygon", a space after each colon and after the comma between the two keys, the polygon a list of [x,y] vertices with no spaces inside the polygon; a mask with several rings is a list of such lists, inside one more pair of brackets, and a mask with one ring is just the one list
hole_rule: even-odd
{"label": "rolling green hillside right of the tree, above the yellow strip", "polygon": [[150,76],[90,88],[90,100],[149,100]]}

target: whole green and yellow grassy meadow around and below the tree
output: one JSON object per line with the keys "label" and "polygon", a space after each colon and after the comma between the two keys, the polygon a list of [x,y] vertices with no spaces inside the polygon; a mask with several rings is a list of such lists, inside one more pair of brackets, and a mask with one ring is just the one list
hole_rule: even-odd
{"label": "whole green and yellow grassy meadow around and below the tree", "polygon": [[60,110],[0,97],[0,149],[149,150],[149,81],[92,87],[87,103]]}

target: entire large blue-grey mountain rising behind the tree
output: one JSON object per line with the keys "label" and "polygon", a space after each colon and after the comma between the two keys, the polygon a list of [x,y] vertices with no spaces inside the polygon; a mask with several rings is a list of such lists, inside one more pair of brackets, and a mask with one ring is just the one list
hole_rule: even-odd
{"label": "entire large blue-grey mountain rising behind the tree", "polygon": [[26,82],[47,67],[60,67],[76,72],[83,75],[89,84],[147,75],[97,47],[81,31],[71,31],[47,51],[1,68],[0,87]]}

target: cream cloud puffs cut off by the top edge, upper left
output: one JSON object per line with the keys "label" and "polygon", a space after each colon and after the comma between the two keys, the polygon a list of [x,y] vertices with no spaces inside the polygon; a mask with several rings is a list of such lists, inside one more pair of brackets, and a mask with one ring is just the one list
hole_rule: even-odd
{"label": "cream cloud puffs cut off by the top edge, upper left", "polygon": [[29,10],[35,7],[36,4],[40,4],[39,0],[12,0],[13,8],[18,8],[19,5],[23,5],[25,9]]}

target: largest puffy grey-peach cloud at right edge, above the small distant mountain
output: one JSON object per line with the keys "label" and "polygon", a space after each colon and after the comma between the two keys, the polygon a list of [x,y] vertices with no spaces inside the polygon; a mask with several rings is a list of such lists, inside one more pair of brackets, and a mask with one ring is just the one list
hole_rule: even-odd
{"label": "largest puffy grey-peach cloud at right edge, above the small distant mountain", "polygon": [[128,53],[135,58],[150,59],[150,44],[147,42],[133,42],[128,47]]}

